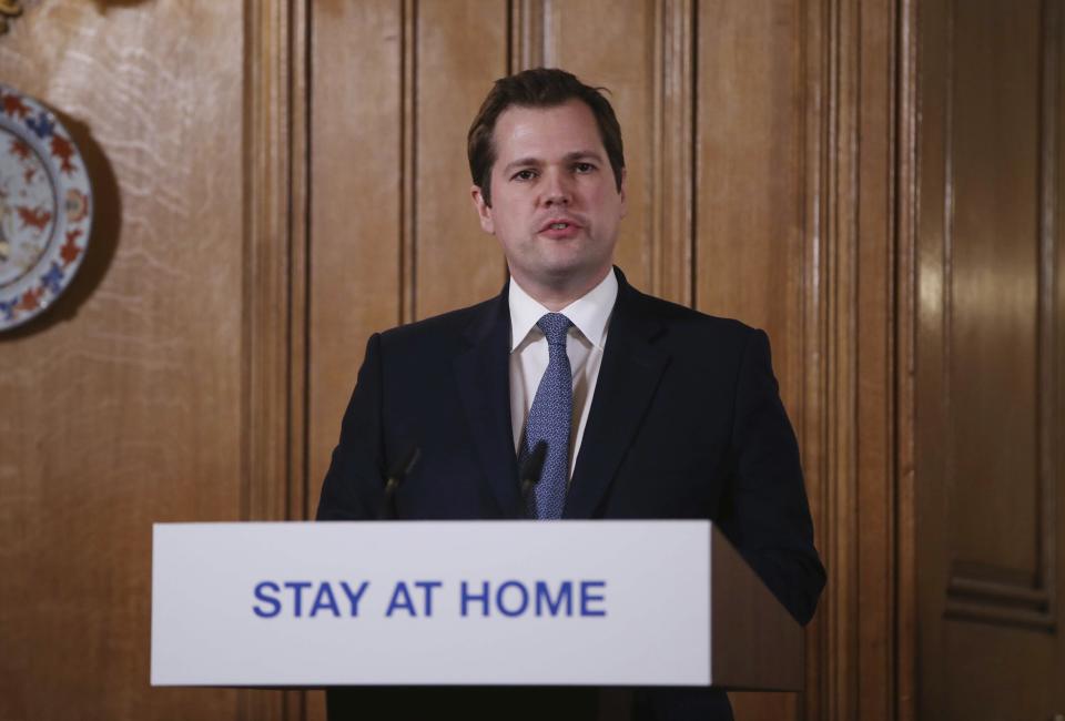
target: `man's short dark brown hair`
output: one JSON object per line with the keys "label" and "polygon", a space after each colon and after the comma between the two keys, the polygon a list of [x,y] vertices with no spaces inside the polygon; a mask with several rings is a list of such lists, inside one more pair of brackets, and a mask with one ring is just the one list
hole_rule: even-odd
{"label": "man's short dark brown hair", "polygon": [[599,139],[607,151],[613,179],[621,192],[621,171],[625,170],[625,152],[621,145],[621,125],[610,102],[600,92],[577,80],[572,73],[557,68],[534,68],[500,78],[493,85],[466,138],[466,154],[469,156],[469,174],[474,185],[480,187],[485,205],[491,205],[491,166],[496,162],[493,134],[496,120],[507,108],[555,108],[570,100],[580,100],[591,109],[599,126]]}

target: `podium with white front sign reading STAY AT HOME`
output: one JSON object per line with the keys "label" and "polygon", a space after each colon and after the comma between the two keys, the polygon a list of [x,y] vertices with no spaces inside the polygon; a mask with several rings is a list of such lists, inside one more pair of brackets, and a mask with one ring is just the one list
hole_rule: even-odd
{"label": "podium with white front sign reading STAY AT HOME", "polygon": [[153,686],[800,690],[709,521],[156,524]]}

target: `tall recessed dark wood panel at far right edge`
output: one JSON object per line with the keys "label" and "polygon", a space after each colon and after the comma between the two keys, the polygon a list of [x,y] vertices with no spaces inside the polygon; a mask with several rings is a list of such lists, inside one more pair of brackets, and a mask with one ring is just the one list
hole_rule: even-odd
{"label": "tall recessed dark wood panel at far right edge", "polygon": [[1025,586],[1037,572],[1039,529],[1038,4],[955,6],[945,161],[953,575],[980,578],[958,563],[992,576],[997,568]]}

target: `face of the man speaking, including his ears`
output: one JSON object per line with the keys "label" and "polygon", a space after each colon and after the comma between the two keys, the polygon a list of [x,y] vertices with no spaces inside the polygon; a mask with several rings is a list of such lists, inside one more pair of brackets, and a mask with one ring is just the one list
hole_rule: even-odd
{"label": "face of the man speaking, including his ears", "polygon": [[579,100],[511,106],[493,142],[491,207],[471,191],[480,226],[532,297],[576,299],[606,277],[625,215],[625,175],[619,192],[595,115]]}

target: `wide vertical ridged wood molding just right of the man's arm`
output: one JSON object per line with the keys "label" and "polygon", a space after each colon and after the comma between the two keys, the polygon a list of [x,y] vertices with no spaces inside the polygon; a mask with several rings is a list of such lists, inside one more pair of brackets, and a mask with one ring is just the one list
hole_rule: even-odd
{"label": "wide vertical ridged wood molding just right of the man's arm", "polygon": [[[803,458],[829,585],[808,643],[807,719],[894,719],[903,466],[897,216],[904,0],[804,3]],[[906,64],[909,62],[911,64]],[[909,116],[912,120],[912,115]],[[912,169],[912,165],[910,166]],[[818,692],[814,693],[813,689]]]}

